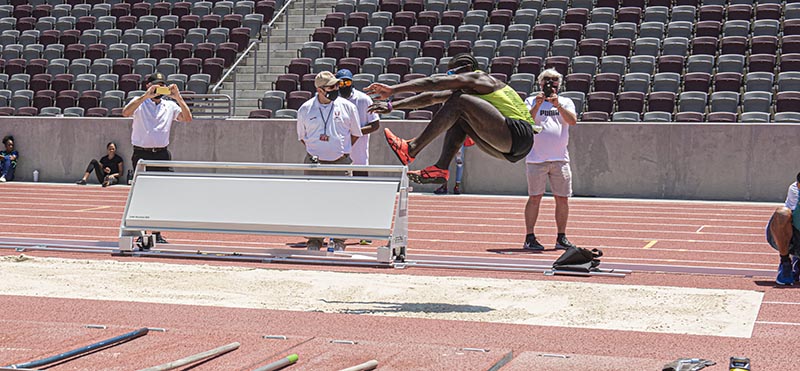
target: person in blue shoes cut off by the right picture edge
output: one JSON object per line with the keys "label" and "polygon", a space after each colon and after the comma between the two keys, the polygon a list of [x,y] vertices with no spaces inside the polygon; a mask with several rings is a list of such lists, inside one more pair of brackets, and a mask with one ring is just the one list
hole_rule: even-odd
{"label": "person in blue shoes cut off by the right picture edge", "polygon": [[772,217],[767,223],[767,243],[772,248],[778,250],[781,263],[778,265],[778,277],[775,283],[779,285],[793,285],[800,276],[800,212],[797,208],[798,184],[800,184],[800,173],[797,174],[797,181],[789,185],[786,201],[783,206],[775,209]]}

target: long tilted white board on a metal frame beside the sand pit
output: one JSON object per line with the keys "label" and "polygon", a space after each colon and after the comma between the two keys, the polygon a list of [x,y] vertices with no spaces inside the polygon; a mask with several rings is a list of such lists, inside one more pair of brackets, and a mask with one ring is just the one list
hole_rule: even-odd
{"label": "long tilted white board on a metal frame beside the sand pit", "polygon": [[[159,167],[177,171],[152,171]],[[197,172],[219,169],[225,172]],[[392,176],[303,174],[318,171]],[[379,251],[379,260],[402,259],[408,240],[406,171],[405,166],[140,161],[122,218],[120,250],[131,251],[134,238],[146,230],[174,230],[388,240],[391,257]]]}

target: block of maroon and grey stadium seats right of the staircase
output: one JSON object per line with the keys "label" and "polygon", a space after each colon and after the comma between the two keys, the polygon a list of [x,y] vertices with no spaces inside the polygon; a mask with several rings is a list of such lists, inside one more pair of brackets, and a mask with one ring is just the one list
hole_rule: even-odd
{"label": "block of maroon and grey stadium seats right of the staircase", "polygon": [[[800,91],[793,2],[339,0],[336,10],[276,90],[304,90],[299,81],[317,66],[349,68],[362,87],[391,84],[471,52],[521,96],[556,68],[583,120],[761,122],[756,112],[772,121],[800,111],[788,94]],[[315,62],[324,57],[332,60]]]}

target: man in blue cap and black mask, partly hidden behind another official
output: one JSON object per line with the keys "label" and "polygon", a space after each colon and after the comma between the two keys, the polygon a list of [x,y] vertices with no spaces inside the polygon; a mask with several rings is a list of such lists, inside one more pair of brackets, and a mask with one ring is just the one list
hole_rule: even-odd
{"label": "man in blue cap and black mask, partly hidden behind another official", "polygon": [[[336,72],[339,79],[339,96],[347,99],[356,105],[358,122],[361,125],[361,138],[353,143],[353,150],[350,157],[353,165],[369,165],[369,134],[381,127],[380,116],[377,113],[369,112],[372,105],[372,98],[353,87],[353,73],[343,68]],[[354,171],[354,176],[367,176],[366,171]]]}

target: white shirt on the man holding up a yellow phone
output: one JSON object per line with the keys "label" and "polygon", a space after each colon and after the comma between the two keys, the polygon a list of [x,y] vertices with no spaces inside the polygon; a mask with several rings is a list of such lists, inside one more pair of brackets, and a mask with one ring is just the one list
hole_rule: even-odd
{"label": "white shirt on the man holding up a yellow phone", "polygon": [[172,122],[181,114],[181,107],[168,99],[156,104],[152,99],[133,112],[131,144],[144,148],[161,148],[169,145],[169,130]]}

